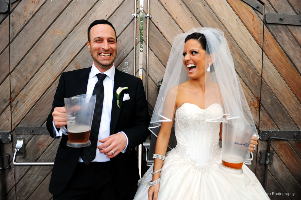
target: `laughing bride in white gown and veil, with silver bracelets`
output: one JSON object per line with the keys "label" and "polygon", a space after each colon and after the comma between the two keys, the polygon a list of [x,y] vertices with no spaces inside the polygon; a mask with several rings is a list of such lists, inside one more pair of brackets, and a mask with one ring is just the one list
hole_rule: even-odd
{"label": "laughing bride in white gown and veil, with silver bracelets", "polygon": [[[154,164],[134,199],[268,199],[246,165],[242,174],[219,168],[221,120],[255,127],[223,32],[191,29],[173,41],[150,125]],[[176,147],[166,153],[173,126]],[[255,136],[256,129],[250,152]]]}

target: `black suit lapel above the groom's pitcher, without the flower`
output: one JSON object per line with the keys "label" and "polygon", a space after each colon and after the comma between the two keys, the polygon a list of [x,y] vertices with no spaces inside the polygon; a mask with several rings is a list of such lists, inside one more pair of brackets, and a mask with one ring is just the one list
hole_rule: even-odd
{"label": "black suit lapel above the groom's pitcher, without the flower", "polygon": [[76,76],[75,95],[81,95],[87,93],[90,71],[91,71],[91,67],[85,68],[82,71],[79,70],[79,73]]}

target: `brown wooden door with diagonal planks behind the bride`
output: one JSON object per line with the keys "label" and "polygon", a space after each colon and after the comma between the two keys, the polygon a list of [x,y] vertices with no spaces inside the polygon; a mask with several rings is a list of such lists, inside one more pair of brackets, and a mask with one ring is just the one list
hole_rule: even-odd
{"label": "brown wooden door with diagonal planks behind the bride", "polygon": [[[266,130],[300,132],[301,26],[268,24],[264,17],[266,13],[300,15],[301,2],[254,0],[263,6],[262,13],[241,0],[149,0],[149,6],[147,2],[144,0],[144,15],[151,17],[148,17],[147,37],[146,18],[143,24],[143,67],[146,70],[148,64],[150,110],[155,106],[157,83],[164,75],[173,38],[193,27],[215,27],[224,32],[228,41],[259,133]],[[259,140],[255,153],[267,149],[266,140]],[[267,168],[266,192],[272,199],[300,198],[300,140],[272,141],[271,149],[275,155],[274,162]],[[249,165],[262,185],[266,167],[260,164],[259,153]]]}

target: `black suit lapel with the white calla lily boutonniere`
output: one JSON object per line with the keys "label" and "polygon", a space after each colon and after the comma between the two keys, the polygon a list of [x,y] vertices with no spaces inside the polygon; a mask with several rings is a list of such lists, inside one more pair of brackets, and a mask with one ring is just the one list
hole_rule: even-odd
{"label": "black suit lapel with the white calla lily boutonniere", "polygon": [[117,107],[117,98],[115,97],[116,90],[118,87],[126,87],[127,82],[122,76],[122,73],[115,68],[115,75],[114,75],[114,89],[113,89],[113,101],[112,101],[112,112],[111,112],[111,126],[110,126],[110,135],[114,134],[115,127],[119,118],[121,106],[122,106],[122,100],[123,100],[123,95],[120,95],[119,98],[119,107]]}

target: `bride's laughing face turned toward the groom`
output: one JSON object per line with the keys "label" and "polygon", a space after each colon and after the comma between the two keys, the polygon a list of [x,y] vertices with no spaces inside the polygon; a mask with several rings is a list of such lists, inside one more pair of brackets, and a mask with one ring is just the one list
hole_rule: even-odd
{"label": "bride's laughing face turned toward the groom", "polygon": [[190,39],[186,41],[183,51],[183,63],[188,71],[188,77],[198,79],[205,75],[206,51],[199,41]]}

